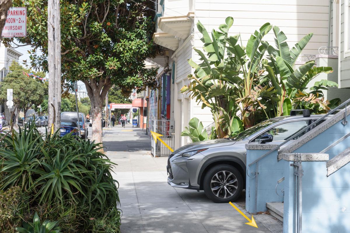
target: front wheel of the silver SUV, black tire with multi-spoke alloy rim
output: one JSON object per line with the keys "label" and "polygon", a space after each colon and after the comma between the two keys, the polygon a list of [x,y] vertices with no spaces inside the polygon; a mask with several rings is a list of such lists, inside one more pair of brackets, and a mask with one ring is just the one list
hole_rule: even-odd
{"label": "front wheel of the silver SUV, black tire with multi-spoke alloy rim", "polygon": [[203,189],[205,195],[214,202],[233,202],[243,190],[243,178],[237,168],[219,164],[205,174]]}

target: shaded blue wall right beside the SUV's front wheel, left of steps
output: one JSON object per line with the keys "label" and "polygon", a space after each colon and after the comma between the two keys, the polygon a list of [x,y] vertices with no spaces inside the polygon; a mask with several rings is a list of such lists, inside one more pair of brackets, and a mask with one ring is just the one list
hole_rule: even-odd
{"label": "shaded blue wall right beside the SUV's front wheel, left of steps", "polygon": [[[247,150],[247,165],[268,151],[269,150]],[[267,202],[283,201],[283,197],[276,194],[275,188],[277,181],[284,176],[283,164],[285,163],[287,163],[285,160],[277,161],[277,151],[272,152],[270,155],[259,161],[257,212],[266,211]],[[255,169],[256,165],[253,164],[250,167],[248,174],[252,176],[250,172],[255,171]],[[246,211],[254,213],[255,177],[250,178],[249,176],[246,176],[246,182]],[[283,188],[283,182],[278,186],[277,191],[279,195],[282,195],[281,189]]]}

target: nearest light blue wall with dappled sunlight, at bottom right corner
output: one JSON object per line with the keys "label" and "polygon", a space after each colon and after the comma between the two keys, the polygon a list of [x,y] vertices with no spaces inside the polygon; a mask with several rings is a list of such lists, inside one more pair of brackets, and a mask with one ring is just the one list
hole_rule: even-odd
{"label": "nearest light blue wall with dappled sunlight, at bottom right corner", "polygon": [[[283,233],[293,233],[293,167],[285,163]],[[350,166],[327,177],[325,161],[303,161],[302,231],[350,232]]]}

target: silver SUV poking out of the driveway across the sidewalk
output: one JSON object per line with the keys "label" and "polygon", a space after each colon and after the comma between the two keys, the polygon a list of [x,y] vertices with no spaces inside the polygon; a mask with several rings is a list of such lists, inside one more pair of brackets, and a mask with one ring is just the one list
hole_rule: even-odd
{"label": "silver SUV poking out of the driveway across the sidewalk", "polygon": [[276,117],[232,138],[182,146],[168,158],[168,184],[178,188],[204,190],[207,197],[214,202],[235,201],[245,189],[245,144],[280,144],[321,117],[322,115],[309,114]]}

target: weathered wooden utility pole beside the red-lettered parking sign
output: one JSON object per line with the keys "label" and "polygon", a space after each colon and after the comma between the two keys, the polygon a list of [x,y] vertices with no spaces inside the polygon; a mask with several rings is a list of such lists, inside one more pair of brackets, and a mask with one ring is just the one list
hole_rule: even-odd
{"label": "weathered wooden utility pole beside the red-lettered parking sign", "polygon": [[[61,126],[61,15],[59,0],[48,0],[49,126]],[[52,133],[52,132],[51,132]]]}

